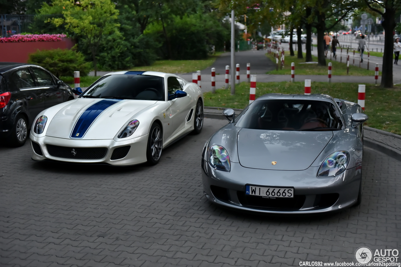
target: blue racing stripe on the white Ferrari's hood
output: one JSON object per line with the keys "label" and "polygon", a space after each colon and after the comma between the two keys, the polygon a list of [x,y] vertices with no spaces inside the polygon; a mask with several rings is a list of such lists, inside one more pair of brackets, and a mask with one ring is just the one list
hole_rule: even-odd
{"label": "blue racing stripe on the white Ferrari's hood", "polygon": [[89,106],[82,114],[79,116],[77,123],[71,132],[71,138],[81,139],[96,120],[96,118],[103,112],[106,108],[109,108],[113,104],[121,101],[122,99],[103,99],[95,104]]}

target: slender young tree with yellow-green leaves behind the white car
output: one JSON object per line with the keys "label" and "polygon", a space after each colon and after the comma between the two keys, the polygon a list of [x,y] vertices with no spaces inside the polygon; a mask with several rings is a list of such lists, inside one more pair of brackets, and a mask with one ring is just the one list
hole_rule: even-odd
{"label": "slender young tree with yellow-green leaves behind the white car", "polygon": [[60,26],[65,23],[66,28],[81,37],[89,47],[95,76],[97,75],[97,53],[101,42],[111,34],[118,34],[120,26],[116,20],[118,10],[110,0],[54,0],[53,3],[62,4],[64,18],[52,18],[51,21]]}

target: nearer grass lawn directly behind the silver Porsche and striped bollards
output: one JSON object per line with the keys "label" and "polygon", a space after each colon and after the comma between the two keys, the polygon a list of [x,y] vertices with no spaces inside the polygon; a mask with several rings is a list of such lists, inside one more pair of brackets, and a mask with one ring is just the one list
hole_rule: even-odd
{"label": "nearer grass lawn directly behind the silver Porsche and striped bollards", "polygon": [[[303,94],[304,82],[257,82],[256,98],[267,93]],[[330,94],[334,98],[358,101],[358,84],[312,82],[312,93]],[[203,94],[205,106],[224,108],[245,108],[249,103],[249,83],[242,82],[235,86],[235,95],[229,89],[217,89],[216,94]],[[401,134],[401,86],[391,89],[366,85],[365,113],[369,120],[365,125]]]}

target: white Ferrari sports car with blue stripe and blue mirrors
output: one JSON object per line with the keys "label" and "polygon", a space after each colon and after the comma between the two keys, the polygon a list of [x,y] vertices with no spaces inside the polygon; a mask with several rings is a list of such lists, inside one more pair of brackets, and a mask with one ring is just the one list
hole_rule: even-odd
{"label": "white Ferrari sports car with blue stripe and blue mirrors", "polygon": [[156,164],[162,149],[203,126],[195,83],[152,71],[109,73],[79,98],[43,110],[30,131],[32,159],[115,166]]}

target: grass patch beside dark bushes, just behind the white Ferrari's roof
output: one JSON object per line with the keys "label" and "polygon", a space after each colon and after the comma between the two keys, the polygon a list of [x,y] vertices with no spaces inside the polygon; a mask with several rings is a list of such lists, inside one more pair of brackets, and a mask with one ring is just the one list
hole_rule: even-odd
{"label": "grass patch beside dark bushes, just behind the white Ferrari's roof", "polygon": [[152,66],[135,67],[131,70],[160,71],[167,73],[188,73],[203,70],[211,66],[223,52],[216,52],[213,56],[202,60],[157,60]]}

